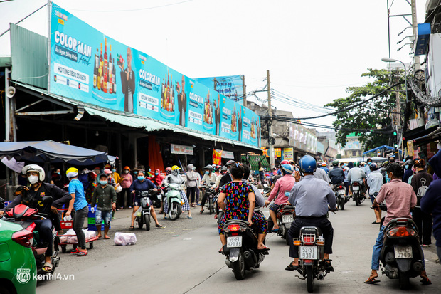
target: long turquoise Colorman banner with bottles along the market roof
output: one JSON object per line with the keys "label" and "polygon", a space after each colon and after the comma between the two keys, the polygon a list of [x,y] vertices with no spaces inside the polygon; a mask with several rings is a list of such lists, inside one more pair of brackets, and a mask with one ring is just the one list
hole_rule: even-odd
{"label": "long turquoise Colorman banner with bottles along the market roof", "polygon": [[49,92],[260,146],[260,117],[52,3]]}

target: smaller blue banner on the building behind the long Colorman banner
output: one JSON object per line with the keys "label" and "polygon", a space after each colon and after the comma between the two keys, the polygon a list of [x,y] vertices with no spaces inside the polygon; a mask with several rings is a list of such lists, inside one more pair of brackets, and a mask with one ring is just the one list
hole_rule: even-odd
{"label": "smaller blue banner on the building behind the long Colorman banner", "polygon": [[243,75],[195,78],[195,80],[208,88],[216,89],[216,92],[243,105]]}

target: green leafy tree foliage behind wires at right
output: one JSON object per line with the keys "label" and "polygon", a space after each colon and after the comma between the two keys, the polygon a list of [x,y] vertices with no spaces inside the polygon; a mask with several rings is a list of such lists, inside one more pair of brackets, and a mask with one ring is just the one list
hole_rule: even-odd
{"label": "green leafy tree foliage behind wires at right", "polygon": [[[370,78],[366,85],[346,88],[349,96],[335,99],[332,103],[325,106],[334,107],[336,110],[351,107],[367,98],[371,98],[373,95],[381,93],[392,84],[390,80],[393,83],[397,83],[398,80],[402,79],[403,72],[397,73],[393,71],[392,75],[390,75],[388,70],[368,68],[368,72],[363,73],[361,76]],[[335,115],[336,120],[333,122],[337,142],[344,147],[346,145],[346,136],[351,134],[351,132],[354,132],[354,130],[366,130],[356,132],[360,136],[359,140],[365,150],[388,145],[394,127],[390,112],[396,111],[395,90],[391,89],[363,105],[337,113]],[[402,95],[400,98],[403,100]]]}

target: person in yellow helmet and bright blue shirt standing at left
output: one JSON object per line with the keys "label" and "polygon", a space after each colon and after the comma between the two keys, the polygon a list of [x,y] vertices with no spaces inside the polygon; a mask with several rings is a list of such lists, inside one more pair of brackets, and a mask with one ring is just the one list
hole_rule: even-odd
{"label": "person in yellow helmet and bright blue shirt standing at left", "polygon": [[70,251],[70,253],[76,254],[77,256],[87,256],[86,237],[83,232],[83,225],[89,209],[87,208],[84,187],[80,180],[78,180],[78,169],[75,169],[75,167],[70,167],[66,171],[66,177],[70,180],[69,194],[72,196],[66,216],[70,216],[70,214],[72,214],[72,209],[75,209],[75,216],[73,216],[73,231],[75,231],[75,234],[77,235],[78,248],[80,248],[80,250],[76,248],[73,251]]}

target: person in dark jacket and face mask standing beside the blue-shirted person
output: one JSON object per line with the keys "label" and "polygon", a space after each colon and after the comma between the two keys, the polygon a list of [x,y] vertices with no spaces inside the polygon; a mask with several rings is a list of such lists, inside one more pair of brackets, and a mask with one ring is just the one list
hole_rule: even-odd
{"label": "person in dark jacket and face mask standing beside the blue-shirted person", "polygon": [[100,174],[100,185],[95,188],[92,194],[91,205],[97,204],[95,214],[95,225],[97,226],[98,238],[101,238],[101,224],[104,220],[104,238],[110,239],[107,235],[112,222],[112,211],[117,208],[117,193],[115,188],[107,181],[107,174]]}

